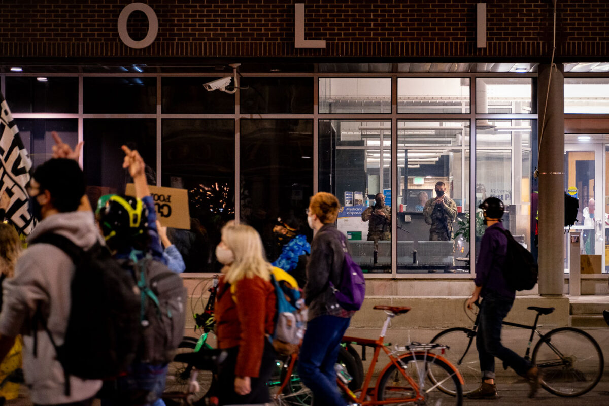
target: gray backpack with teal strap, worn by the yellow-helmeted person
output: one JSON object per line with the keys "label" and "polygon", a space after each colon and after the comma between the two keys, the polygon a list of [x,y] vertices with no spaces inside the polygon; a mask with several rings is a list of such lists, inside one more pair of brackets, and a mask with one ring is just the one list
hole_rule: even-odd
{"label": "gray backpack with teal strap, worn by the yellow-helmeted person", "polygon": [[171,361],[184,337],[186,288],[182,278],[152,257],[119,260],[139,289],[141,331],[136,360],[150,364]]}

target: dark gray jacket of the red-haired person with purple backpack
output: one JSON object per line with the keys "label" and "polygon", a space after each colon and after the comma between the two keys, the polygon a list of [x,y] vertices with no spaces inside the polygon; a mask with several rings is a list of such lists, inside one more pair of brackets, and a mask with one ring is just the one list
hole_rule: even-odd
{"label": "dark gray jacket of the red-haired person with purple backpack", "polygon": [[340,282],[345,253],[341,239],[349,243],[334,224],[325,224],[317,231],[311,242],[311,256],[306,266],[307,282],[304,289],[305,304],[309,307],[309,320],[322,315],[350,317],[336,302],[336,296],[329,287]]}

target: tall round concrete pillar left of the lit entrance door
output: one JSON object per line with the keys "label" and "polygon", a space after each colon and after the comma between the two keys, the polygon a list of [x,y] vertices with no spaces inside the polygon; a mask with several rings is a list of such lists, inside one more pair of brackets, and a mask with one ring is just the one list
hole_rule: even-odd
{"label": "tall round concrete pillar left of the lit entrance door", "polygon": [[[551,80],[550,80],[551,77]],[[548,91],[549,89],[549,91]],[[565,285],[565,74],[539,65],[539,293],[563,295]],[[547,107],[546,107],[547,94]],[[543,133],[542,133],[543,131]],[[534,215],[534,213],[532,213]]]}

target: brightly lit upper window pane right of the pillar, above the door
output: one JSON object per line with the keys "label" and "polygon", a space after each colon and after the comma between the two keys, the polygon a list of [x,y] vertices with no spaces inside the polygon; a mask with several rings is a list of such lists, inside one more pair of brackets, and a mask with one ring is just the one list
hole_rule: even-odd
{"label": "brightly lit upper window pane right of the pillar, above the door", "polygon": [[565,113],[609,113],[609,78],[566,77]]}

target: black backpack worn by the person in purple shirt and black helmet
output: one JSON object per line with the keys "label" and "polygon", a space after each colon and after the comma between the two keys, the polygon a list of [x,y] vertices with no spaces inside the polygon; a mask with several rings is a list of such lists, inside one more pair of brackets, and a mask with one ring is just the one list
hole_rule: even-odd
{"label": "black backpack worn by the person in purple shirt and black helmet", "polygon": [[515,290],[530,290],[537,284],[539,267],[533,254],[527,251],[507,230],[499,229],[507,238],[507,253],[503,275]]}

